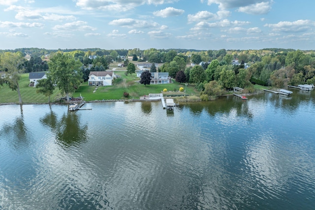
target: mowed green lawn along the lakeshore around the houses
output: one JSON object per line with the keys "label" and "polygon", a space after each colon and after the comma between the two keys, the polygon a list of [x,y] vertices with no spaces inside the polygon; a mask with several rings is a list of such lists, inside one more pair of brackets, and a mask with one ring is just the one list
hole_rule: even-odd
{"label": "mowed green lawn along the lakeshore around the houses", "polygon": [[[162,90],[165,88],[168,91],[172,91],[173,89],[176,92],[180,87],[185,89],[185,84],[179,83],[171,83],[171,84],[161,84],[161,85],[142,85],[137,83],[140,78],[136,77],[136,74],[132,74],[131,76],[125,75],[125,71],[115,71],[120,77],[115,80],[114,86],[106,86],[106,87],[97,87],[95,90],[95,86],[89,86],[87,82],[83,83],[78,90],[72,93],[71,96],[79,97],[80,94],[86,101],[94,101],[94,100],[120,100],[120,99],[137,99],[140,96],[148,95],[149,93],[162,93]],[[36,88],[29,87],[29,73],[25,73],[21,75],[21,79],[19,81],[20,92],[23,103],[47,103],[48,97],[43,95],[42,93],[36,93]],[[94,92],[95,90],[95,92]],[[124,92],[129,93],[129,97],[124,96]],[[166,92],[164,94],[172,94],[176,92]],[[194,85],[187,86],[188,94],[198,94]],[[63,97],[60,93],[60,90],[56,87],[54,94],[50,96],[51,102],[55,102],[58,98]],[[18,92],[16,90],[12,91],[8,88],[7,85],[0,86],[0,103],[18,103],[19,97]]]}

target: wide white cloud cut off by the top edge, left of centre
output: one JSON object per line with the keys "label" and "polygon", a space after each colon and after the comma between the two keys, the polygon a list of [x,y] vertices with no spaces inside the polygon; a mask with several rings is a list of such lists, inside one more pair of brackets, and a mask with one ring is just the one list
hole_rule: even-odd
{"label": "wide white cloud cut off by the top edge, left of centre", "polygon": [[76,5],[88,10],[127,11],[144,4],[166,4],[178,0],[77,0]]}

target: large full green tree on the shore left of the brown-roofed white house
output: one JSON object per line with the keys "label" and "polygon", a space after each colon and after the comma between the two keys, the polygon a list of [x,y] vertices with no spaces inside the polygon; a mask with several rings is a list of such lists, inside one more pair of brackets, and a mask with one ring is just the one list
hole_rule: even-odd
{"label": "large full green tree on the shore left of the brown-roofed white house", "polygon": [[69,101],[69,93],[77,90],[83,80],[80,70],[82,63],[58,52],[50,59],[48,65],[50,71],[47,76],[57,84],[61,94],[66,94],[66,99]]}

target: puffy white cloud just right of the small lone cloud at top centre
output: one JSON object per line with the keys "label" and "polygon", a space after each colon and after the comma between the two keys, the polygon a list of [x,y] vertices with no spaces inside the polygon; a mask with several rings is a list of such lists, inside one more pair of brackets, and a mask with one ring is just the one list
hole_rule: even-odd
{"label": "puffy white cloud just right of the small lone cloud at top centre", "polygon": [[201,21],[211,21],[226,18],[231,15],[230,11],[221,10],[217,14],[211,13],[209,11],[199,11],[194,15],[189,14],[187,16],[188,23],[201,22]]}

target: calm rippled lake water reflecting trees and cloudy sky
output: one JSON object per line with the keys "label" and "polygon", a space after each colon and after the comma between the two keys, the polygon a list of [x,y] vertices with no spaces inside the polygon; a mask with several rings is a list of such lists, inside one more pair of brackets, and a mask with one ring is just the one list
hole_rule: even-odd
{"label": "calm rippled lake water reflecting trees and cloudy sky", "polygon": [[0,210],[315,207],[315,90],[0,106]]}

